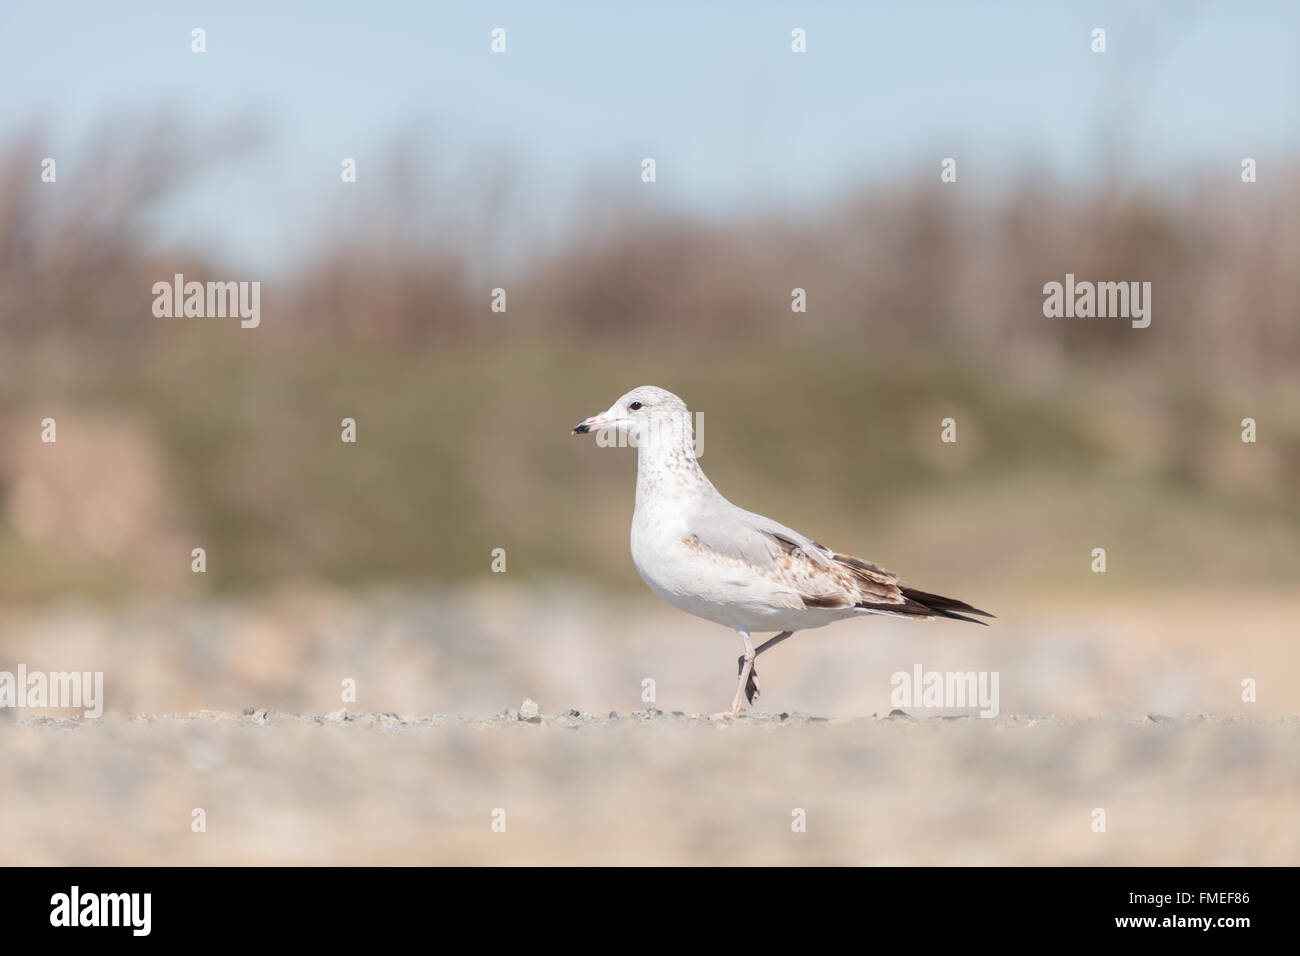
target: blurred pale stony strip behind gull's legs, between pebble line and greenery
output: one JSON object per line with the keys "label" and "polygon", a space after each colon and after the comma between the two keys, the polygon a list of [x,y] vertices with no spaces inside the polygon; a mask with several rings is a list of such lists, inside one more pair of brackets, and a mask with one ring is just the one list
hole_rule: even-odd
{"label": "blurred pale stony strip behind gull's legs, between pebble line and greenery", "polygon": [[[896,706],[892,675],[920,665],[997,672],[1006,714],[1300,714],[1300,592],[1123,596],[1095,587],[1069,597],[982,592],[998,614],[991,627],[864,618],[801,632],[760,658],[760,704],[885,714]],[[247,706],[486,717],[524,697],[549,710],[714,711],[732,701],[741,649],[727,628],[649,593],[559,584],[0,607],[0,669],[101,671],[105,714],[117,717]],[[1257,684],[1248,705],[1244,679]],[[354,700],[341,695],[344,680],[355,682]],[[10,717],[0,709],[0,724]]]}

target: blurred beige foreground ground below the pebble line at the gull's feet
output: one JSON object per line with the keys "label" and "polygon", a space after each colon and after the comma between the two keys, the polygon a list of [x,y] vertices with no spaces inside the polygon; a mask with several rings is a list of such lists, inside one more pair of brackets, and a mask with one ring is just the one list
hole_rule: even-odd
{"label": "blurred beige foreground ground below the pebble line at the gull's feet", "polygon": [[1297,745],[1296,719],[1160,715],[27,718],[0,726],[0,847],[88,865],[1294,865]]}

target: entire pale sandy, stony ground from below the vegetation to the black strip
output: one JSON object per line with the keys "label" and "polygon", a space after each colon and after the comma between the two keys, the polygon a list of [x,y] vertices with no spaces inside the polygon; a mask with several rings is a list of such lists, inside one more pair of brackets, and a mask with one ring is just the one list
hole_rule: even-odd
{"label": "entire pale sandy, stony ground from below the vegetation to the black strip", "polygon": [[[988,597],[801,633],[736,722],[690,717],[734,635],[649,596],[0,609],[0,670],[105,697],[0,709],[0,862],[1300,864],[1300,596]],[[1001,715],[889,718],[918,665],[998,672]]]}

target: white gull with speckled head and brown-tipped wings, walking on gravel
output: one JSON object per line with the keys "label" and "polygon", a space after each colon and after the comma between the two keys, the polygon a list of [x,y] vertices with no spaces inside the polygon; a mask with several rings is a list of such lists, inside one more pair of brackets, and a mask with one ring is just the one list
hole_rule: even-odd
{"label": "white gull with speckled head and brown-tipped wings, walking on gravel", "polygon": [[[760,692],[755,662],[796,631],[863,614],[913,620],[992,618],[940,594],[900,584],[878,564],[840,554],[771,518],[724,498],[696,458],[686,403],[641,385],[608,410],[584,419],[573,434],[595,432],[602,445],[637,449],[632,563],[655,594],[679,610],[736,631],[740,683],[731,714]],[[754,648],[750,633],[776,631]]]}

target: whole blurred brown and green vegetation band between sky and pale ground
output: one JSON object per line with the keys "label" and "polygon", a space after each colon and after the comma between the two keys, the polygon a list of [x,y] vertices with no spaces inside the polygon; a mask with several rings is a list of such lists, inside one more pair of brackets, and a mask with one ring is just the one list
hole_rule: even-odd
{"label": "whole blurred brown and green vegetation band between sky and pale ground", "polygon": [[[151,315],[174,272],[246,277],[147,242],[157,183],[183,177],[142,179],[148,135],[113,142],[108,172],[53,198],[34,143],[0,153],[0,600],[442,587],[488,576],[494,548],[511,580],[640,588],[634,453],[569,428],[644,384],[703,415],[729,498],[923,587],[1300,575],[1286,177],[918,187],[711,224],[608,202],[524,267],[491,252],[508,216],[436,229],[403,194],[266,277],[263,324],[240,329]],[[1152,281],[1152,326],[1044,319],[1066,272]]]}

